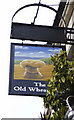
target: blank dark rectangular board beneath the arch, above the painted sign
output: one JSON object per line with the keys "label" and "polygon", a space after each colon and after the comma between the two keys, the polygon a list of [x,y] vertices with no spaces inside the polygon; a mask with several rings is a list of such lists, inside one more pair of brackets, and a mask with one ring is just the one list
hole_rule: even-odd
{"label": "blank dark rectangular board beneath the arch, above the painted sign", "polygon": [[61,27],[12,22],[10,38],[48,43],[66,43],[64,31],[65,29]]}

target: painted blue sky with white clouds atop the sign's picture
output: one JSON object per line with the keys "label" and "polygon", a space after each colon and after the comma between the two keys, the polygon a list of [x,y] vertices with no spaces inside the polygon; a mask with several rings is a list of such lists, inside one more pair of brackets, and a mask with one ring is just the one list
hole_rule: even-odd
{"label": "painted blue sky with white clouds atop the sign's picture", "polygon": [[15,46],[14,56],[15,60],[25,59],[43,59],[53,56],[55,53],[59,53],[61,48],[52,47],[35,47],[35,46]]}

